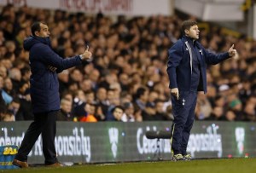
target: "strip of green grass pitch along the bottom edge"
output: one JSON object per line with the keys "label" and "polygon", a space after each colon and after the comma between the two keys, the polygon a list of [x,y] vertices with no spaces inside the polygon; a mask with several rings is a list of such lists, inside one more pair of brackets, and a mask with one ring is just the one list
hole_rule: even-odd
{"label": "strip of green grass pitch along the bottom edge", "polygon": [[61,168],[32,167],[0,170],[8,173],[255,173],[256,159],[196,159],[191,161],[137,162],[122,164],[84,164]]}

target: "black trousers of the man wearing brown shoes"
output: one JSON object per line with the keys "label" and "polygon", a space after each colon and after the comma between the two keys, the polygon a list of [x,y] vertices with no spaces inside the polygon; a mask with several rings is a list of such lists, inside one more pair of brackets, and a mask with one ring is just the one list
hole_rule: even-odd
{"label": "black trousers of the man wearing brown shoes", "polygon": [[30,124],[28,130],[26,130],[26,134],[15,159],[27,161],[27,155],[38,140],[38,136],[42,134],[44,164],[54,164],[57,162],[55,151],[57,112],[58,111],[52,111],[34,114],[34,121]]}

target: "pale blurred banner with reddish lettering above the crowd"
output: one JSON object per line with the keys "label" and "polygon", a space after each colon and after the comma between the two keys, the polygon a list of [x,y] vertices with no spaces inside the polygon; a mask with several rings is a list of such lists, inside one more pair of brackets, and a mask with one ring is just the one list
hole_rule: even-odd
{"label": "pale blurred banner with reddish lettering above the crowd", "polygon": [[131,16],[172,15],[174,0],[0,0],[0,5],[8,3],[15,7],[26,5],[39,9],[61,9],[70,12],[96,14],[125,14]]}

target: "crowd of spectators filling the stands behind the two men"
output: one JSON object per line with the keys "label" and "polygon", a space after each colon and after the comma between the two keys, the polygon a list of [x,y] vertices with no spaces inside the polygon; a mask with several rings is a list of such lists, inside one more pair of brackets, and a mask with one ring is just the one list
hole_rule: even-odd
{"label": "crowd of spectators filling the stands behind the two men", "polygon": [[[172,120],[167,50],[181,37],[177,15],[116,18],[61,10],[0,7],[0,121],[32,120],[29,55],[23,40],[34,21],[49,26],[51,46],[63,58],[90,45],[94,61],[58,75],[62,121]],[[235,44],[239,60],[208,66],[207,95],[198,94],[197,120],[256,121],[256,41],[218,26],[201,30],[212,52]]]}

